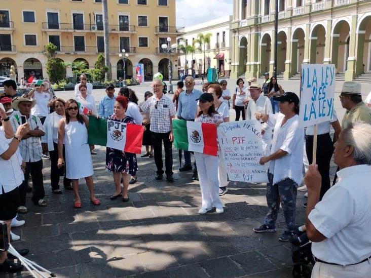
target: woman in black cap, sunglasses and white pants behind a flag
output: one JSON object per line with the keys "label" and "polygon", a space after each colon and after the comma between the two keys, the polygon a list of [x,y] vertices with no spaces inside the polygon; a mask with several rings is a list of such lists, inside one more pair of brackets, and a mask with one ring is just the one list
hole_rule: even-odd
{"label": "woman in black cap, sunglasses and white pants behind a flag", "polygon": [[[215,110],[212,94],[204,93],[199,99],[200,112],[195,122],[215,124],[223,122],[223,117]],[[217,156],[195,152],[195,160],[200,181],[202,206],[199,214],[205,214],[215,208],[216,213],[223,213],[223,204],[219,198],[218,164]]]}

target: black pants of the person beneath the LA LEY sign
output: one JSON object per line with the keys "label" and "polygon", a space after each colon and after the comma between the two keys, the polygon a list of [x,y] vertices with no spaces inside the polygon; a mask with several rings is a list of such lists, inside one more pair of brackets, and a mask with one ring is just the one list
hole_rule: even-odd
{"label": "black pants of the person beneath the LA LEY sign", "polygon": [[[307,135],[305,146],[309,164],[313,162],[313,136]],[[322,177],[321,193],[319,200],[322,200],[323,195],[330,188],[330,162],[333,153],[333,145],[329,133],[317,136],[317,160],[318,171]]]}

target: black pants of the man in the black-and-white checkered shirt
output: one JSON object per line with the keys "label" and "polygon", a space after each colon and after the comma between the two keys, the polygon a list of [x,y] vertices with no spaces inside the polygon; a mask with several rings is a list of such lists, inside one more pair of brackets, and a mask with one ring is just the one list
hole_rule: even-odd
{"label": "black pants of the man in the black-and-white checkered shirt", "polygon": [[165,174],[166,176],[173,175],[173,143],[169,140],[170,132],[166,133],[157,133],[152,132],[152,145],[154,150],[155,156],[155,164],[157,167],[156,173],[159,175],[164,174],[164,170],[162,170],[163,162],[162,162],[162,141],[164,141],[164,149],[165,149]]}

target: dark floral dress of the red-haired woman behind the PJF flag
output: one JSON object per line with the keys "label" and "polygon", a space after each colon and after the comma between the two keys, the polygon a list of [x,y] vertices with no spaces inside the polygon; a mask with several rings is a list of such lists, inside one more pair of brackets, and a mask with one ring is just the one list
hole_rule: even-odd
{"label": "dark floral dress of the red-haired woman behind the PJF flag", "polygon": [[[109,116],[107,120],[115,122],[134,124],[132,117],[126,116],[122,120],[118,120],[116,115]],[[126,173],[132,176],[136,175],[138,171],[138,164],[135,153],[121,151],[107,147],[105,155],[105,168],[109,172]]]}

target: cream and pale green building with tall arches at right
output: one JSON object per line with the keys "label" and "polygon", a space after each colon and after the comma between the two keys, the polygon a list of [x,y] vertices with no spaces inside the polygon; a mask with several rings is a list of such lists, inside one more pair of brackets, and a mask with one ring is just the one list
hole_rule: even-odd
{"label": "cream and pale green building with tall arches at right", "polygon": [[[274,66],[274,0],[234,0],[232,76],[261,76]],[[277,73],[302,63],[335,64],[346,81],[371,71],[371,2],[279,0]]]}

